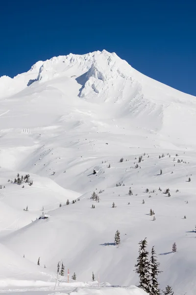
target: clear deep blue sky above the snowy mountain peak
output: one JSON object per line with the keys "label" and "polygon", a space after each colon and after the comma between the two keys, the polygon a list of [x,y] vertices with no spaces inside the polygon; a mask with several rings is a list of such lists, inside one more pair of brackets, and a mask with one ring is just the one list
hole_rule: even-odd
{"label": "clear deep blue sky above the snowy mountain peak", "polygon": [[196,0],[2,0],[0,76],[106,49],[196,95]]}

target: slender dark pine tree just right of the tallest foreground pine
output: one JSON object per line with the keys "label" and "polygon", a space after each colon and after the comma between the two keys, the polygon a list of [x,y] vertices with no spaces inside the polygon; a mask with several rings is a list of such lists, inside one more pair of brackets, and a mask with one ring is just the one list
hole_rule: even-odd
{"label": "slender dark pine tree just right of the tallest foreground pine", "polygon": [[160,290],[158,288],[159,283],[157,281],[157,276],[161,272],[158,267],[160,266],[160,263],[157,262],[156,259],[156,253],[154,251],[154,246],[151,250],[151,257],[150,257],[150,266],[151,266],[151,295],[160,295]]}

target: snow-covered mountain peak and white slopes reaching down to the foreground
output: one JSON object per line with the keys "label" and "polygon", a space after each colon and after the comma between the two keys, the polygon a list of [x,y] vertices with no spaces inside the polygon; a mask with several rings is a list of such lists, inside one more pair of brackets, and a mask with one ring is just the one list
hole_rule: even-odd
{"label": "snow-covered mountain peak and white slopes reaching down to the foreground", "polygon": [[[100,282],[138,285],[138,242],[147,237],[160,288],[195,295],[194,126],[196,97],[114,53],[70,54],[0,77],[0,292],[145,295],[79,282],[99,272]],[[14,183],[28,174],[32,185]]]}

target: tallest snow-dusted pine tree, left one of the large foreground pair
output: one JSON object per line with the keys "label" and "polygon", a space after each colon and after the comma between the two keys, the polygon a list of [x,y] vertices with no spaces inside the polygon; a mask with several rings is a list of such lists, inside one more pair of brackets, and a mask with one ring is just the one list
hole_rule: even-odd
{"label": "tallest snow-dusted pine tree, left one of the large foreground pair", "polygon": [[139,257],[137,259],[137,264],[135,265],[135,271],[139,274],[140,277],[140,285],[139,287],[145,290],[148,294],[150,294],[151,284],[150,284],[150,263],[147,259],[148,252],[146,250],[147,247],[147,238],[139,242]]}

